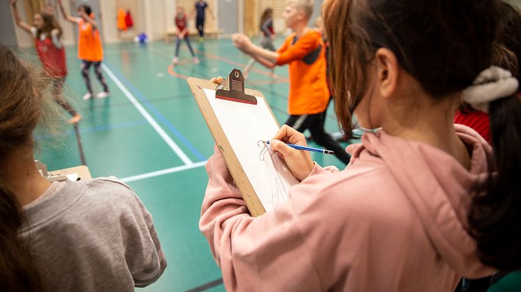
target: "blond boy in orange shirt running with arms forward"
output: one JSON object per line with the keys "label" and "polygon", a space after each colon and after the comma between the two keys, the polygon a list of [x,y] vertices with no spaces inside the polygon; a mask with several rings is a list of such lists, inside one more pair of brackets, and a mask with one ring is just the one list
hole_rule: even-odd
{"label": "blond boy in orange shirt running with arms forward", "polygon": [[348,164],[350,155],[324,129],[329,102],[325,45],[321,35],[307,26],[313,8],[311,0],[287,1],[282,16],[293,33],[277,52],[254,45],[244,34],[233,35],[233,45],[267,68],[289,65],[290,116],[286,125],[299,132],[309,130],[316,144],[335,151],[335,156]]}

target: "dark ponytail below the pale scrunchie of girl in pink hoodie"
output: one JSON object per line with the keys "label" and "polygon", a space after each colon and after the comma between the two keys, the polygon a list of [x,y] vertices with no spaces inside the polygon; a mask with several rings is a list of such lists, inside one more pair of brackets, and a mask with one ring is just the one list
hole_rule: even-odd
{"label": "dark ponytail below the pale scrunchie of girl in pink hoodie", "polygon": [[495,171],[476,194],[469,213],[471,236],[483,263],[521,268],[521,95],[490,102]]}

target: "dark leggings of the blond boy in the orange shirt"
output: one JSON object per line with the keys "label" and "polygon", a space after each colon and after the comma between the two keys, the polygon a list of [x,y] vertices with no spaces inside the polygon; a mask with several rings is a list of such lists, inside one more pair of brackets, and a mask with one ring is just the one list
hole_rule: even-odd
{"label": "dark leggings of the blond boy in the orange shirt", "polygon": [[291,115],[286,121],[289,125],[298,132],[309,130],[311,137],[316,144],[323,146],[328,150],[335,151],[335,156],[345,164],[349,163],[351,156],[340,146],[332,137],[324,130],[325,113],[319,114],[302,114],[300,116]]}

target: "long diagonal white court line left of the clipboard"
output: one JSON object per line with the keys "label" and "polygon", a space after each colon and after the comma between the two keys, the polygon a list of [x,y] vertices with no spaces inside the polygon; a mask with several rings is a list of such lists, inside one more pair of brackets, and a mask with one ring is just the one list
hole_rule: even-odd
{"label": "long diagonal white court line left of the clipboard", "polygon": [[150,114],[147,112],[147,110],[138,102],[138,100],[135,99],[134,95],[132,93],[130,93],[130,91],[128,89],[126,89],[126,87],[122,84],[122,82],[120,82],[119,79],[117,79],[117,77],[114,75],[114,73],[112,73],[112,71],[107,66],[105,66],[104,63],[101,63],[101,67],[103,68],[103,70],[105,70],[108,77],[110,77],[110,79],[112,79],[112,81],[117,85],[117,87],[119,87],[119,89],[121,89],[121,91],[126,96],[126,98],[128,98],[130,100],[132,105],[134,105],[134,107],[136,109],[138,109],[138,112],[140,112],[141,115],[143,117],[145,117],[145,119],[148,121],[148,123],[150,125],[152,125],[152,128],[154,128],[154,130],[156,130],[156,132],[159,134],[159,136],[161,136],[161,138],[163,138],[163,140],[166,142],[166,144],[168,144],[168,146],[170,146],[170,148],[172,148],[172,150],[175,152],[175,154],[177,154],[177,156],[179,156],[179,158],[181,158],[181,160],[184,162],[184,164],[193,165],[192,160],[190,160],[190,158],[188,156],[186,156],[186,154],[181,150],[181,148],[179,148],[179,146],[177,146],[177,144],[175,144],[174,140],[172,138],[170,138],[170,136],[168,136],[168,134],[166,134],[165,130],[163,130],[163,128],[161,128],[161,126],[156,122],[156,120],[154,120],[154,118],[152,118],[152,116],[150,116]]}

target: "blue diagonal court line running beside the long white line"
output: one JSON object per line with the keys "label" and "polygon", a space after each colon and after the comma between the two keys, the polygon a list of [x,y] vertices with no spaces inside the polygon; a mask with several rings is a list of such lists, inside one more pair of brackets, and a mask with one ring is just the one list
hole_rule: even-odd
{"label": "blue diagonal court line running beside the long white line", "polygon": [[161,121],[161,123],[163,123],[164,125],[166,125],[166,128],[168,128],[168,130],[170,130],[170,132],[173,132],[173,134],[175,136],[177,136],[177,138],[179,138],[179,140],[182,141],[182,143],[184,144],[184,146],[186,146],[187,148],[190,149],[190,151],[196,155],[196,157],[198,157],[198,159],[200,161],[205,161],[207,160],[207,157],[205,157],[203,154],[201,154],[196,147],[194,147],[192,144],[190,144],[190,142],[177,130],[177,128],[174,127],[174,125],[172,125],[172,123],[170,123],[168,121],[168,119],[163,116],[163,114],[161,114],[157,109],[156,107],[154,107],[154,105],[152,105],[152,103],[150,103],[147,98],[145,98],[144,95],[142,95],[142,93],[140,93],[140,91],[138,91],[138,89],[135,89],[135,87],[129,82],[129,80],[127,80],[125,77],[122,76],[122,74],[116,70],[114,67],[110,66],[110,64],[107,62],[107,61],[103,61],[103,63],[105,63],[105,66],[107,66],[108,68],[110,68],[110,70],[112,70],[112,72],[114,73],[114,75],[116,75],[116,77],[123,83],[125,84],[125,86],[127,88],[129,88],[131,91],[133,91],[133,93],[135,94],[135,97],[138,98],[138,100],[140,100],[140,102],[142,102],[143,105],[145,105],[145,107],[147,107],[147,109],[149,109],[150,112],[152,112],[152,114],[154,114],[154,116],[158,119],[158,121]]}

